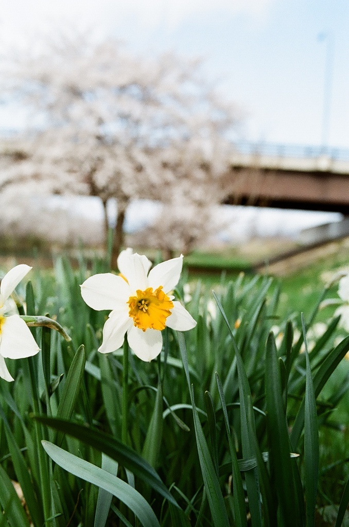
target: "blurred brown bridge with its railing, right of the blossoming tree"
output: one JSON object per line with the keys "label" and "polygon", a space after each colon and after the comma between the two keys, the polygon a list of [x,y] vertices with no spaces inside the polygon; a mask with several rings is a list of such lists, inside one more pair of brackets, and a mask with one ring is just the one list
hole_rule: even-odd
{"label": "blurred brown bridge with its railing, right of the blossoming tree", "polygon": [[228,204],[349,214],[349,150],[240,143]]}

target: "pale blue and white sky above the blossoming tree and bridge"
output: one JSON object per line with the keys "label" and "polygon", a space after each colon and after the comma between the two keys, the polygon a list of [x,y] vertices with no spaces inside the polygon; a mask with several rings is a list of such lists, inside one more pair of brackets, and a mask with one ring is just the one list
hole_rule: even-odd
{"label": "pale blue and white sky above the blossoming tree and bridge", "polygon": [[[200,56],[207,78],[244,116],[238,139],[325,141],[349,149],[347,0],[1,0],[0,5],[0,45],[27,45],[38,34],[78,28],[96,38],[121,38],[137,53]],[[16,120],[13,110],[0,108],[0,128],[11,120]]]}

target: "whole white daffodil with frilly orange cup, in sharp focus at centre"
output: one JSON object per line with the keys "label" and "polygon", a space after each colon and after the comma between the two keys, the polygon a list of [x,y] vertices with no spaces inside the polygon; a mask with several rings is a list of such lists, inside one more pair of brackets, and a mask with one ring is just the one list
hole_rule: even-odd
{"label": "whole white daffodil with frilly orange cup, in sharp focus at centre", "polygon": [[120,275],[94,275],[84,281],[81,295],[93,309],[111,309],[103,328],[101,353],[122,346],[125,333],[132,351],[146,362],[157,357],[162,348],[161,330],[166,326],[187,331],[196,321],[174,301],[170,291],[182,271],[183,256],[153,267],[146,256],[122,251],[118,258]]}

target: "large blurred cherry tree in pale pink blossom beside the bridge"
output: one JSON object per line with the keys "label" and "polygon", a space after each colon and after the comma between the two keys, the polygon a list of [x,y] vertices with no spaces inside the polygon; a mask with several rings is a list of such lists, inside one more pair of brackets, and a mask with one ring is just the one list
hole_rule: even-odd
{"label": "large blurred cherry tree in pale pink blossom beside the bridge", "polygon": [[194,235],[189,216],[210,215],[221,200],[227,134],[237,116],[235,106],[202,78],[200,66],[173,53],[146,58],[115,41],[93,44],[76,36],[18,55],[7,62],[2,89],[22,98],[35,114],[36,129],[28,126],[25,158],[3,177],[41,181],[54,193],[98,196],[105,238],[106,205],[115,199],[112,265],[135,198],[160,200],[167,219],[161,220],[161,236],[181,230],[182,245],[191,248],[209,219],[196,221]]}

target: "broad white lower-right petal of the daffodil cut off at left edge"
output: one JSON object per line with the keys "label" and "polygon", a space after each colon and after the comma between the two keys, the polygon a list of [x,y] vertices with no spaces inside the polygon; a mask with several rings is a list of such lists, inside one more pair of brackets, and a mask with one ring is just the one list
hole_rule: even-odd
{"label": "broad white lower-right petal of the daffodil cut off at left edge", "polygon": [[40,351],[30,329],[19,315],[5,317],[1,326],[0,355],[11,359],[31,357]]}

